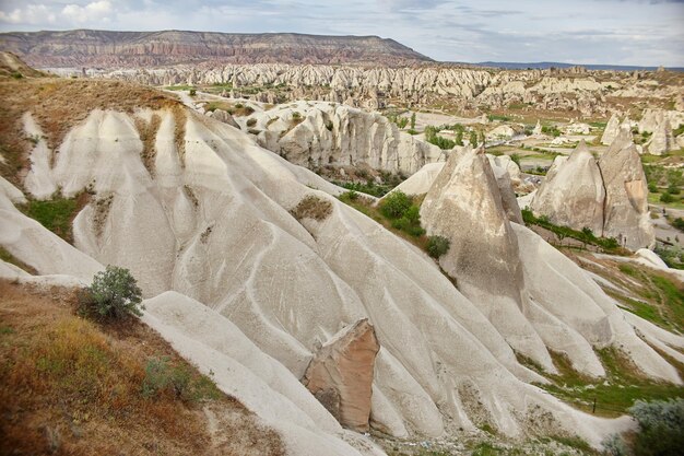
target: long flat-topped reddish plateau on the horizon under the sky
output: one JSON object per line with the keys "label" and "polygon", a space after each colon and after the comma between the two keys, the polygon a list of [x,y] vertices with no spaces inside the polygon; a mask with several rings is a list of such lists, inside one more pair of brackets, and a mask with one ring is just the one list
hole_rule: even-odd
{"label": "long flat-topped reddish plateau on the horizon under the sky", "polygon": [[208,60],[232,63],[381,63],[429,61],[411,48],[377,36],[204,32],[15,32],[0,48],[38,68],[144,68]]}

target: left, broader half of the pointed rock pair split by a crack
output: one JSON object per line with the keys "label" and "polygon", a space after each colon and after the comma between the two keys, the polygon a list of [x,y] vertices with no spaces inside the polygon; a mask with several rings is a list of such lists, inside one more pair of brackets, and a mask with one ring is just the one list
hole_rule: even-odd
{"label": "left, broader half of the pointed rock pair split by a crack", "polygon": [[605,190],[601,169],[582,140],[563,164],[546,175],[532,200],[536,215],[546,215],[557,225],[603,232]]}

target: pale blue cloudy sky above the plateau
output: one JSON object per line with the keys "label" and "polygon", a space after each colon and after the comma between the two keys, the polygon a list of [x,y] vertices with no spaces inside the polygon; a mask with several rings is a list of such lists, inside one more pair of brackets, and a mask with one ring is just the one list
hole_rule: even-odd
{"label": "pale blue cloudy sky above the plateau", "polygon": [[684,67],[684,0],[0,0],[0,31],[378,35],[443,61]]}

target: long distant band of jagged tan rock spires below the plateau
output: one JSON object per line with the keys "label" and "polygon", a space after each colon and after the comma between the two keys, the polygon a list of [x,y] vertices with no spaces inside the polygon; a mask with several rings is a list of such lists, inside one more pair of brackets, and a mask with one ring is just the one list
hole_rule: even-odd
{"label": "long distant band of jagged tan rock spires below the plateau", "polygon": [[318,100],[368,109],[393,105],[532,117],[561,112],[569,119],[684,107],[684,73],[674,72],[202,63],[89,74],[149,85],[207,85],[266,103]]}

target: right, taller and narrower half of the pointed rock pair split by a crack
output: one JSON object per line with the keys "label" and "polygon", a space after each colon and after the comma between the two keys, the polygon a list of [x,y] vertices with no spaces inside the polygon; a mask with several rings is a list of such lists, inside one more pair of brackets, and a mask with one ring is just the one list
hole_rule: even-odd
{"label": "right, taller and narrower half of the pointed rock pair split by a crack", "polygon": [[605,188],[602,235],[615,237],[632,250],[652,246],[656,237],[649,220],[646,175],[628,130],[621,130],[599,160],[599,168]]}

